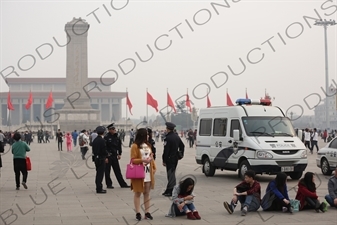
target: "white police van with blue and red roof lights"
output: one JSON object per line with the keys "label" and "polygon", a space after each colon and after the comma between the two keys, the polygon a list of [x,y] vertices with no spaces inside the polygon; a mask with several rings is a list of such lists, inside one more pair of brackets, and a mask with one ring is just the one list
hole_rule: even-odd
{"label": "white police van with blue and red roof lights", "polygon": [[238,99],[236,106],[200,109],[196,162],[206,176],[216,169],[247,170],[256,174],[285,172],[302,177],[308,164],[307,150],[291,121],[268,99]]}

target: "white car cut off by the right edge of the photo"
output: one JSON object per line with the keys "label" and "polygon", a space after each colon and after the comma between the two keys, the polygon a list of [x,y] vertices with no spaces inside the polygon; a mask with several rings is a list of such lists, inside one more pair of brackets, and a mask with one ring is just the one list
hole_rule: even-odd
{"label": "white car cut off by the right edge of the photo", "polygon": [[331,175],[337,167],[337,138],[330,141],[317,153],[316,165],[324,175]]}

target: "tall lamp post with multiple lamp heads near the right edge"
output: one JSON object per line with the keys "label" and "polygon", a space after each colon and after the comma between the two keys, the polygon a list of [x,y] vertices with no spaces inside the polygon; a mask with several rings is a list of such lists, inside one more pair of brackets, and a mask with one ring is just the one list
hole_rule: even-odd
{"label": "tall lamp post with multiple lamp heads near the right edge", "polygon": [[315,24],[317,26],[324,27],[324,41],[325,41],[325,88],[326,88],[326,98],[325,98],[325,121],[326,129],[330,128],[330,118],[329,118],[329,102],[328,102],[328,90],[329,90],[329,71],[328,71],[328,38],[327,38],[327,28],[328,26],[336,25],[334,20],[316,20]]}

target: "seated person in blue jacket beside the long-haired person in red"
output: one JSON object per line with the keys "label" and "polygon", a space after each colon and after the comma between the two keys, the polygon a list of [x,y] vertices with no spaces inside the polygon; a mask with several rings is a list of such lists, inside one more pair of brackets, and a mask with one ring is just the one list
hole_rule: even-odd
{"label": "seated person in blue jacket beside the long-haired person in red", "polygon": [[[288,195],[286,173],[278,173],[276,178],[269,182],[266,195],[268,196],[263,197],[261,204],[264,211],[293,212]],[[264,200],[269,202],[265,204],[266,206],[264,206]]]}

